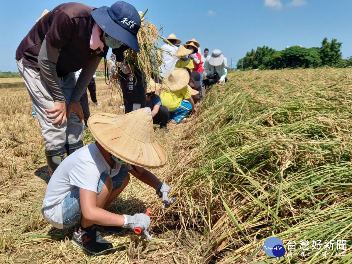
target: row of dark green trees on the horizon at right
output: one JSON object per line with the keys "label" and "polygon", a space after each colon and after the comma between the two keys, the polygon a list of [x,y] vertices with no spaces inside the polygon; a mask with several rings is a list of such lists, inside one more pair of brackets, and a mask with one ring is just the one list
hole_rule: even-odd
{"label": "row of dark green trees on the horizon at right", "polygon": [[239,59],[237,69],[280,69],[280,68],[316,68],[320,66],[347,67],[352,66],[352,56],[342,59],[341,42],[324,38],[321,47],[303,48],[292,46],[276,51],[268,46],[258,47],[247,52]]}

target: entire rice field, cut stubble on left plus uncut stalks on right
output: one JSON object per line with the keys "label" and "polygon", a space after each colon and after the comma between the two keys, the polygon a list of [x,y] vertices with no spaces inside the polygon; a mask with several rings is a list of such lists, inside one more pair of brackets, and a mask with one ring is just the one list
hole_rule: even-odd
{"label": "entire rice field, cut stubble on left plus uncut stalks on right", "polygon": [[[351,69],[229,77],[184,125],[155,131],[168,163],[152,171],[176,202],[159,210],[155,190],[131,177],[108,208],[134,214],[152,206],[153,241],[101,231],[116,249],[102,256],[74,247],[71,229],[43,218],[49,173],[30,97],[26,88],[1,88],[0,262],[352,263]],[[103,80],[97,97],[101,105],[90,102],[91,113],[123,114],[120,93]],[[92,140],[85,131],[84,143]],[[269,237],[282,240],[283,257],[265,254]]]}

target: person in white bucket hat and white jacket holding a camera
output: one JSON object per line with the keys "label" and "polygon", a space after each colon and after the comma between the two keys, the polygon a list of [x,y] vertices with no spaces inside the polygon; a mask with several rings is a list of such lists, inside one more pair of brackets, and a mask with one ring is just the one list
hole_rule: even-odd
{"label": "person in white bucket hat and white jacket holding a camera", "polygon": [[218,73],[219,83],[224,83],[227,80],[227,59],[220,50],[213,50],[212,55],[206,59],[204,68],[207,75]]}

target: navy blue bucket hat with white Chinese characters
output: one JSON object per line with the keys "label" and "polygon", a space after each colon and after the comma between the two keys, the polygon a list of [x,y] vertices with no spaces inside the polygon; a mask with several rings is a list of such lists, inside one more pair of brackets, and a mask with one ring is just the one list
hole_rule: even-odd
{"label": "navy blue bucket hat with white Chinese characters", "polygon": [[141,21],[132,5],[118,1],[111,7],[102,6],[92,10],[92,17],[110,37],[139,52],[137,33]]}

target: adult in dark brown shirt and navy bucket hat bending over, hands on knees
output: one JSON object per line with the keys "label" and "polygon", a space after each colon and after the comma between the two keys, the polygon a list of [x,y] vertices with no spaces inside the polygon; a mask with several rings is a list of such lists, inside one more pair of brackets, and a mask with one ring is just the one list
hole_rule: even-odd
{"label": "adult in dark brown shirt and navy bucket hat bending over, hands on knees", "polygon": [[50,174],[83,146],[80,98],[101,58],[109,47],[119,61],[128,48],[139,52],[140,21],[124,1],[100,8],[66,3],[40,18],[18,46],[17,67],[37,111]]}

